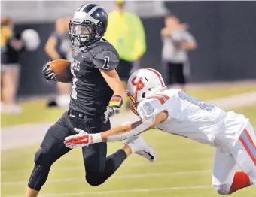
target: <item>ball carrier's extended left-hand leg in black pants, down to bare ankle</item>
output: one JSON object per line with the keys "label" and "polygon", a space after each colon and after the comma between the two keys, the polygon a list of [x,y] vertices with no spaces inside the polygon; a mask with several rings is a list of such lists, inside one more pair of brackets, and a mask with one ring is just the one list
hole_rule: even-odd
{"label": "ball carrier's extended left-hand leg in black pants, down to bare ankle", "polygon": [[29,178],[26,197],[35,197],[38,195],[41,186],[47,180],[53,162],[56,162],[59,157],[68,153],[70,150],[69,147],[65,147],[63,144],[66,136],[70,135],[69,129],[65,123],[62,123],[65,116],[66,114],[63,114],[62,118],[48,129],[41,143],[41,147],[35,153],[35,166]]}

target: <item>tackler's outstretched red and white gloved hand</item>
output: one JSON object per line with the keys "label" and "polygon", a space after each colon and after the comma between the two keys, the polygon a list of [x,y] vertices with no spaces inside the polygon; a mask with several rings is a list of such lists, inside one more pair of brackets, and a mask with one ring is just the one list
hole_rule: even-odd
{"label": "tackler's outstretched red and white gloved hand", "polygon": [[76,148],[76,147],[85,147],[89,146],[90,142],[92,142],[90,138],[90,134],[87,132],[84,132],[81,129],[75,128],[75,132],[78,132],[76,135],[70,135],[69,137],[65,138],[64,144],[66,147],[69,147],[70,149]]}

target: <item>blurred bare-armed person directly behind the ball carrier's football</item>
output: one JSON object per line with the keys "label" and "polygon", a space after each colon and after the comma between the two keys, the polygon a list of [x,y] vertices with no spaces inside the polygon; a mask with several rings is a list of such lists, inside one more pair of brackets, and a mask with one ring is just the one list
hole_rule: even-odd
{"label": "blurred bare-armed person directly behind the ball carrier's football", "polygon": [[[56,20],[55,31],[48,38],[45,44],[45,52],[50,57],[50,60],[67,59],[71,53],[71,42],[69,40],[69,17],[59,18]],[[67,60],[70,60],[69,58]],[[71,92],[71,84],[57,83],[58,95],[56,99],[49,100],[48,107],[58,106],[60,108],[69,107],[69,95]]]}

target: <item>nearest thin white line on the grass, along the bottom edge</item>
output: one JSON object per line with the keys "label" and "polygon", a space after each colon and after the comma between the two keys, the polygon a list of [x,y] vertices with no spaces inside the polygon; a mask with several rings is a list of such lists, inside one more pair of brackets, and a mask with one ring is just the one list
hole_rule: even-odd
{"label": "nearest thin white line on the grass, along the bottom edge", "polygon": [[[44,194],[39,195],[40,197],[51,197],[51,196],[71,196],[71,195],[105,195],[105,194],[116,194],[116,193],[133,193],[133,192],[161,192],[161,191],[173,191],[181,189],[209,189],[212,186],[175,186],[166,188],[150,188],[150,189],[130,189],[130,190],[113,190],[113,191],[101,191],[101,192],[77,192],[77,193],[56,193],[56,194]],[[23,195],[7,195],[6,197],[22,197]]]}

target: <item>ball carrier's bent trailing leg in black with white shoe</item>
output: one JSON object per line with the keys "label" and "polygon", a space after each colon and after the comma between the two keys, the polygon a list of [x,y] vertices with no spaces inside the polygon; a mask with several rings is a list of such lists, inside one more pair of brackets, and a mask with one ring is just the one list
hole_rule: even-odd
{"label": "ball carrier's bent trailing leg in black with white shoe", "polygon": [[[103,126],[103,131],[110,129],[109,123]],[[126,141],[122,149],[117,150],[107,158],[107,144],[93,144],[83,147],[84,167],[86,180],[91,186],[99,186],[104,183],[122,165],[123,161],[132,153],[137,153],[155,161],[154,150],[146,144],[141,136],[135,136]]]}

